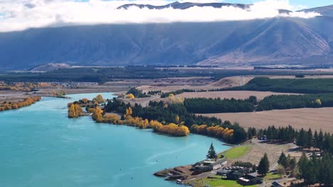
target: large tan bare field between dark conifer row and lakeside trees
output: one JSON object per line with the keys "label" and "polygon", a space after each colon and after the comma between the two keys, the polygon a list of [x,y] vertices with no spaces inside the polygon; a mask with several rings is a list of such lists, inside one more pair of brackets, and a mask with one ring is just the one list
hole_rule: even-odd
{"label": "large tan bare field between dark conifer row and lakeside trees", "polygon": [[290,110],[262,111],[253,113],[204,114],[222,120],[237,121],[244,128],[292,127],[305,130],[333,132],[333,108],[298,108]]}

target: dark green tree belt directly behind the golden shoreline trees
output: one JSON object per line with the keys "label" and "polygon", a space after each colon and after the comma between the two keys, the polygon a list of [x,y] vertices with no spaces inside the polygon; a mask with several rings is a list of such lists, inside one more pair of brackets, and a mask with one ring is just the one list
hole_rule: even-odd
{"label": "dark green tree belt directly behind the golden shoreline trees", "polygon": [[[105,113],[116,112],[125,114],[126,109],[131,107],[129,103],[125,104],[123,101],[113,98],[108,102],[104,108]],[[135,104],[132,106],[132,116],[139,117],[147,120],[157,120],[162,125],[169,123],[176,123],[177,116],[180,124],[191,129],[191,132],[201,135],[209,135],[213,137],[221,138],[229,143],[240,143],[247,140],[247,132],[241,128],[238,124],[231,124],[229,121],[222,122],[218,118],[209,118],[202,115],[194,115],[187,111],[186,107],[180,103],[165,104],[163,101],[150,101],[148,107],[142,107]],[[191,128],[193,125],[203,125],[202,130],[194,130]],[[196,126],[194,126],[196,127]],[[210,128],[214,127],[214,129]],[[231,133],[230,130],[233,130]],[[229,131],[227,134],[223,131]]]}

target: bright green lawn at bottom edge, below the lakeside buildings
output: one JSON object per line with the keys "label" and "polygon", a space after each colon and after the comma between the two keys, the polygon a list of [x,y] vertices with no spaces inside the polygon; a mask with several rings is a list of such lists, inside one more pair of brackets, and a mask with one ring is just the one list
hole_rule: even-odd
{"label": "bright green lawn at bottom edge, below the lakeside buildings", "polygon": [[[224,179],[200,179],[193,183],[193,186],[211,186],[211,187],[241,187],[236,181]],[[254,186],[248,186],[254,187]]]}

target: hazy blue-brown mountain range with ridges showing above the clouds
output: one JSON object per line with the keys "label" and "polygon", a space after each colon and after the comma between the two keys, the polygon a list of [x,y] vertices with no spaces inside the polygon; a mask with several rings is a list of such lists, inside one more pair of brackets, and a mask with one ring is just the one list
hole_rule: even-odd
{"label": "hazy blue-brown mountain range with ridges showing above the clouds", "polygon": [[[149,8],[237,6],[174,3]],[[289,12],[287,10],[281,10]],[[221,66],[333,62],[333,6],[305,9],[322,16],[210,23],[105,24],[0,33],[0,69],[38,64]]]}

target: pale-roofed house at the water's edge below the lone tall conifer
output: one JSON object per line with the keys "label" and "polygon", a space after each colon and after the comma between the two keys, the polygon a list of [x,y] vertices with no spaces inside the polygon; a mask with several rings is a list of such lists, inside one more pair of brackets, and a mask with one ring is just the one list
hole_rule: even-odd
{"label": "pale-roofed house at the water's edge below the lone tall conifer", "polygon": [[215,169],[221,169],[222,166],[225,166],[226,164],[227,164],[227,159],[218,159],[216,161],[213,161],[211,159],[206,159],[194,164],[192,166],[192,169],[196,172],[203,173]]}

